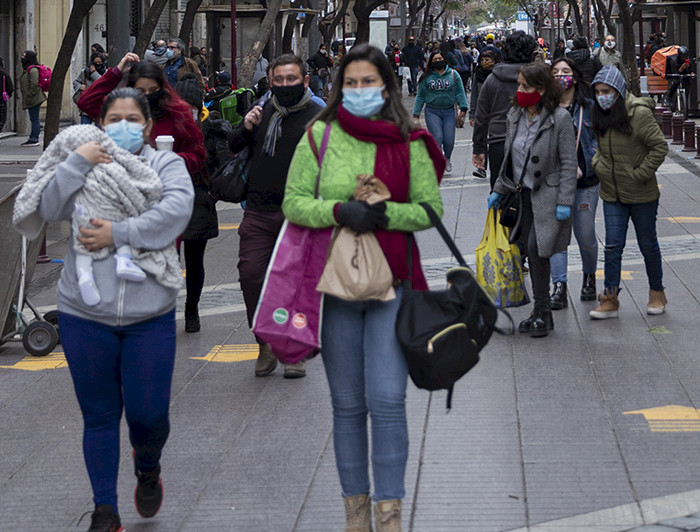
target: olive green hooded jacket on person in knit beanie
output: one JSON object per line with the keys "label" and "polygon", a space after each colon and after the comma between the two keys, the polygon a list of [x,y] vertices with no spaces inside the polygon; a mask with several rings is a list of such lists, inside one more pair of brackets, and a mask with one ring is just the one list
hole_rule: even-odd
{"label": "olive green hooded jacket on person in knit beanie", "polygon": [[603,201],[649,203],[659,198],[656,170],[666,158],[668,144],[654,118],[654,100],[628,94],[625,106],[632,134],[608,129],[599,136],[593,170]]}

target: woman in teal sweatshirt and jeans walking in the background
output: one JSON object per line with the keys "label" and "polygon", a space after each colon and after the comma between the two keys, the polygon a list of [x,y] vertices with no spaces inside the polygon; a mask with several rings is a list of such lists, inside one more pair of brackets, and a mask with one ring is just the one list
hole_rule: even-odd
{"label": "woman in teal sweatshirt and jeans walking in the background", "polygon": [[425,72],[418,80],[418,96],[413,106],[413,118],[420,117],[425,105],[425,125],[445,154],[447,173],[452,171],[450,157],[455,145],[457,125],[455,104],[459,106],[460,120],[464,120],[469,104],[462,78],[447,65],[440,50],[434,51],[428,58]]}

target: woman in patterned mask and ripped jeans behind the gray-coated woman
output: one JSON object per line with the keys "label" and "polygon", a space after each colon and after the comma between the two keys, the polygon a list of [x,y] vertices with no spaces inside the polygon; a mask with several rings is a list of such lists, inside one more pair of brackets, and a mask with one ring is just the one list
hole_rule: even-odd
{"label": "woman in patterned mask and ripped jeans behind the gray-coated woman", "polygon": [[[569,111],[574,134],[579,139],[576,146],[578,179],[573,209],[574,236],[581,253],[583,270],[581,301],[595,301],[595,272],[598,265],[595,213],[600,196],[600,181],[591,165],[593,155],[598,150],[598,142],[590,118],[593,100],[587,97],[590,92],[588,83],[583,80],[580,71],[570,59],[566,57],[557,59],[552,64],[552,74],[564,91],[559,106]],[[555,253],[549,261],[554,285],[551,297],[552,310],[559,310],[566,308],[569,304],[566,289],[567,252]]]}

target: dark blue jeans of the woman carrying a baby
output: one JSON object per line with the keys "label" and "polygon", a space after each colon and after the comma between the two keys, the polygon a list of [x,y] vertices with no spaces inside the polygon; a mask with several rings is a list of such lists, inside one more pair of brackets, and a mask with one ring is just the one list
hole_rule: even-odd
{"label": "dark blue jeans of the woman carrying a baby", "polygon": [[170,433],[168,411],[175,364],[175,310],[113,327],[58,315],[61,343],[83,414],[83,455],[97,504],[117,512],[119,424],[141,471],[153,471]]}

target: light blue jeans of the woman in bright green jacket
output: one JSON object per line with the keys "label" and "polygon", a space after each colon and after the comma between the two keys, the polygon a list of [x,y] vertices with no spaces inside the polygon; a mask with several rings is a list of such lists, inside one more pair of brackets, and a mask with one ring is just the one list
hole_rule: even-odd
{"label": "light blue jeans of the woman in bright green jacket", "polygon": [[333,403],[333,444],[344,497],[369,494],[367,415],[372,420],[374,500],[402,499],[408,460],[408,366],[394,327],[401,302],[325,296],[322,349]]}

